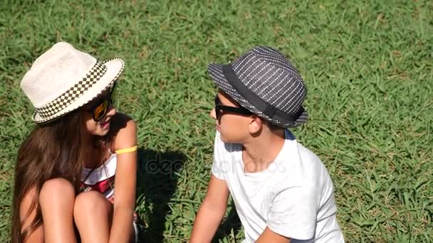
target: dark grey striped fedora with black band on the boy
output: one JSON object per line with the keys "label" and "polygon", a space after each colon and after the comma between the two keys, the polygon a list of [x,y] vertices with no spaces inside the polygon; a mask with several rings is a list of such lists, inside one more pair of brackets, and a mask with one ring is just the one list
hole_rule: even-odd
{"label": "dark grey striped fedora with black band on the boy", "polygon": [[228,65],[209,64],[215,84],[241,107],[283,128],[308,120],[307,88],[298,70],[278,50],[256,46]]}

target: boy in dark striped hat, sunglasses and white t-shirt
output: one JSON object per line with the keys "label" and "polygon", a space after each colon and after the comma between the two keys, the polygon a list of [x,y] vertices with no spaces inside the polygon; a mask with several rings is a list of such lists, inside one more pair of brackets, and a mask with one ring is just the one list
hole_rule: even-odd
{"label": "boy in dark striped hat, sunglasses and white t-shirt", "polygon": [[306,86],[282,53],[258,46],[229,65],[209,65],[219,87],[214,163],[191,242],[210,242],[229,194],[243,242],[344,242],[333,183],[289,127],[303,124]]}

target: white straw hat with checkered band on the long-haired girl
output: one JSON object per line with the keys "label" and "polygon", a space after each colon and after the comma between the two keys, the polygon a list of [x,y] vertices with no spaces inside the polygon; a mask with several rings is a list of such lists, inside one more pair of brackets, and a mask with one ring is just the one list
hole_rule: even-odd
{"label": "white straw hat with checkered band on the long-haired girl", "polygon": [[38,124],[72,112],[113,86],[125,63],[120,58],[98,62],[71,44],[56,43],[31,65],[21,80]]}

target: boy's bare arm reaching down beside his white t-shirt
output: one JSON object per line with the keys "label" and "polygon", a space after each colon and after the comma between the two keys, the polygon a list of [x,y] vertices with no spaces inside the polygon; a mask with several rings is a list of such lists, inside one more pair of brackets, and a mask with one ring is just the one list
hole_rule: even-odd
{"label": "boy's bare arm reaching down beside his white t-shirt", "polygon": [[211,242],[226,213],[228,199],[229,188],[226,181],[212,174],[206,198],[197,212],[194,227],[192,227],[191,243]]}

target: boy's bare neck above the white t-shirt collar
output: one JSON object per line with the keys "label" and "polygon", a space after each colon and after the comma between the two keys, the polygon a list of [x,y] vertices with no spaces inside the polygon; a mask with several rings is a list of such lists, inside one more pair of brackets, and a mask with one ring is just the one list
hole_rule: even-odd
{"label": "boy's bare neck above the white t-shirt collar", "polygon": [[264,171],[284,146],[284,129],[262,132],[242,144],[242,161],[246,173]]}

